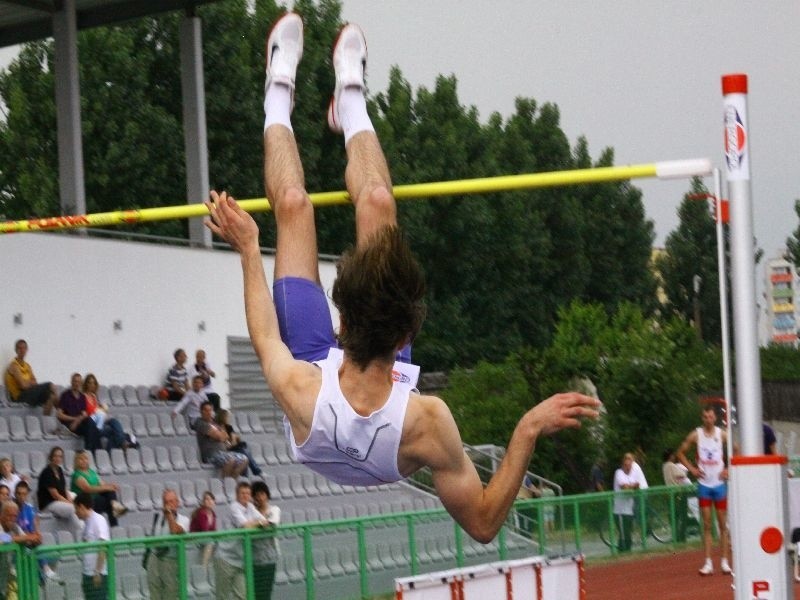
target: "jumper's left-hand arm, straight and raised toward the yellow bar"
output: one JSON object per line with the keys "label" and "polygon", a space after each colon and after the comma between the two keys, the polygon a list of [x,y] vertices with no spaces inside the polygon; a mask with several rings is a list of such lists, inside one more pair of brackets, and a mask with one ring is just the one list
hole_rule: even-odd
{"label": "jumper's left-hand arm, straight and raised toward the yellow bar", "polygon": [[275,304],[267,287],[264,263],[258,245],[258,225],[226,192],[211,192],[206,202],[211,219],[206,226],[239,252],[244,276],[244,308],[250,341],[261,362],[261,369],[275,399],[289,419],[296,411],[287,401],[287,390],[294,374],[308,366],[292,357],[281,340]]}

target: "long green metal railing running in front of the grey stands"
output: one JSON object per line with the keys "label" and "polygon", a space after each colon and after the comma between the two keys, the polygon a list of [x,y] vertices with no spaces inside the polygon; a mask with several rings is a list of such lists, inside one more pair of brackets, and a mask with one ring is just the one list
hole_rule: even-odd
{"label": "long green metal railing running in front of the grey stands", "polygon": [[[685,500],[693,494],[690,487],[656,487],[623,492],[636,499],[638,532],[633,551],[644,551],[663,544],[679,545],[686,540],[680,535],[685,519]],[[109,598],[121,598],[121,586],[141,580],[142,555],[146,548],[168,548],[174,556],[178,599],[195,597],[193,581],[201,565],[203,549],[214,544],[217,555],[200,572],[212,570],[219,559],[219,549],[236,547],[242,557],[242,573],[247,598],[253,600],[258,585],[253,558],[259,545],[270,538],[277,540],[282,559],[274,597],[285,597],[281,586],[293,590],[294,597],[318,597],[320,581],[331,578],[350,587],[341,596],[332,595],[326,584],[319,597],[361,597],[391,591],[391,579],[441,568],[521,558],[531,555],[583,553],[587,556],[614,556],[619,535],[615,528],[614,492],[601,492],[520,500],[509,515],[497,538],[483,546],[464,535],[442,509],[403,512],[392,515],[363,516],[336,521],[297,523],[274,529],[237,529],[177,536],[115,539],[108,542],[60,544],[23,548],[0,546],[0,581],[2,566],[8,553],[13,553],[19,597],[25,600],[44,598],[40,584],[40,559],[58,560],[57,571],[75,589],[81,577],[82,557],[87,553],[105,552],[108,566]],[[521,519],[522,514],[526,515]],[[658,536],[654,532],[659,522]],[[331,557],[340,561],[335,563]],[[344,557],[344,558],[343,558]],[[7,564],[8,561],[6,560]],[[351,567],[350,569],[346,567]],[[202,565],[201,565],[202,567]],[[388,573],[388,575],[387,575]],[[345,581],[346,580],[346,581]],[[54,584],[47,584],[48,590]],[[346,586],[345,586],[346,587]],[[56,587],[56,589],[59,589]],[[64,588],[60,588],[64,589]],[[288,588],[283,588],[286,591]],[[59,598],[71,598],[68,594]],[[147,595],[146,593],[144,594]],[[48,593],[47,600],[53,596]]]}

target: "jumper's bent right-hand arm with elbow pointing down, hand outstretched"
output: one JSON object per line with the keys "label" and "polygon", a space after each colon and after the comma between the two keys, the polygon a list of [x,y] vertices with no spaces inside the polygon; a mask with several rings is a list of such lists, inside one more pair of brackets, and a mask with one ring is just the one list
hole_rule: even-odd
{"label": "jumper's bent right-hand arm with elbow pointing down, hand outstretched", "polygon": [[484,488],[467,457],[453,415],[438,398],[423,407],[428,423],[427,460],[433,483],[447,511],[473,538],[491,541],[505,522],[528,468],[536,439],[566,427],[580,427],[580,417],[597,417],[600,401],[581,394],[558,394],[520,419],[500,467]]}

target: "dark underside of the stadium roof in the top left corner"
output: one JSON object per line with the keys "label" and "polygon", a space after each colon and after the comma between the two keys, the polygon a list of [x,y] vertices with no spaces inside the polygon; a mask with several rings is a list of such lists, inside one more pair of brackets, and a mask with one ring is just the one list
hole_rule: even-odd
{"label": "dark underside of the stadium roof in the top left corner", "polygon": [[[191,10],[216,0],[75,0],[78,30],[171,10]],[[52,15],[63,0],[0,0],[0,47],[52,37]]]}

